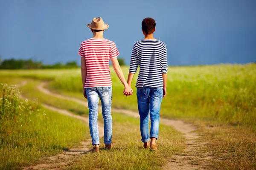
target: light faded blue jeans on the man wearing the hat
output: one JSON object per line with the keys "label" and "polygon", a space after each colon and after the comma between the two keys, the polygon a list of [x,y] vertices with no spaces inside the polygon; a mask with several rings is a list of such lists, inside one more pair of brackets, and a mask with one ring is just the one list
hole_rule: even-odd
{"label": "light faded blue jeans on the man wearing the hat", "polygon": [[112,88],[111,87],[97,87],[86,88],[86,95],[88,99],[89,108],[89,127],[90,135],[92,137],[93,145],[99,144],[99,128],[98,128],[98,105],[99,98],[102,102],[102,116],[104,119],[104,143],[111,144],[112,139]]}

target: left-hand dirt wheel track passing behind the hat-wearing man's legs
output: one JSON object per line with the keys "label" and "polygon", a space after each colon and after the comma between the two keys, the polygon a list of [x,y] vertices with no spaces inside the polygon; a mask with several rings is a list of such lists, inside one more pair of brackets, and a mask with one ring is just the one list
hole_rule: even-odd
{"label": "left-hand dirt wheel track passing behind the hat-wearing man's legs", "polygon": [[[17,88],[26,85],[27,82],[23,81],[20,84],[16,85]],[[20,98],[21,99],[26,99],[24,96],[22,96],[20,94]],[[58,113],[64,114],[66,116],[70,116],[76,119],[80,119],[84,122],[86,122],[87,124],[89,124],[89,119],[87,117],[83,117],[83,116],[79,116],[79,115],[74,115],[73,113],[70,113],[67,110],[64,109],[59,109],[59,108],[55,108],[53,106],[49,106],[49,105],[45,105],[45,104],[41,104],[44,108],[47,108],[49,110],[52,111],[56,111]],[[98,122],[98,126],[99,126],[99,138],[102,138],[104,136],[104,127],[102,125],[102,123]],[[56,169],[63,169],[66,166],[73,164],[73,162],[79,157],[81,156],[81,154],[83,153],[89,153],[91,151],[92,147],[89,147],[89,145],[92,143],[91,139],[87,139],[86,141],[82,141],[80,142],[80,146],[79,147],[75,147],[75,148],[70,148],[67,151],[64,151],[63,153],[60,153],[58,155],[55,156],[50,156],[50,157],[45,157],[43,159],[41,159],[39,162],[39,164],[35,164],[29,167],[23,167],[24,170],[56,170]]]}

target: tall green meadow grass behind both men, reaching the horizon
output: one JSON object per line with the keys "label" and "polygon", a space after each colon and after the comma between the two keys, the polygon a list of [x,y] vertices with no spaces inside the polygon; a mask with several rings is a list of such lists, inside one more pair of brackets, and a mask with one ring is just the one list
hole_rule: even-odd
{"label": "tall green meadow grass behind both men, reaching the horizon", "polygon": [[[128,66],[122,67],[125,77]],[[12,71],[1,71],[12,75]],[[21,71],[19,76],[52,79],[49,88],[73,96],[81,95],[80,70]],[[48,78],[45,78],[48,77]],[[113,81],[112,105],[137,111],[135,74],[134,95],[122,95],[123,87],[111,68]],[[207,119],[233,125],[256,127],[256,64],[205,65],[169,67],[167,96],[160,114],[168,118]]]}

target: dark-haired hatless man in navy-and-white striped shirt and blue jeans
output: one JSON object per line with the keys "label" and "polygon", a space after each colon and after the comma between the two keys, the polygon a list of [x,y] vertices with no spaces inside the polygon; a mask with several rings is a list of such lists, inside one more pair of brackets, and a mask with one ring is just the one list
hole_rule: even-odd
{"label": "dark-haired hatless man in navy-and-white striped shirt and blue jeans", "polygon": [[[162,41],[153,37],[156,26],[154,19],[145,18],[141,25],[145,38],[137,41],[133,46],[127,82],[131,87],[134,74],[140,66],[136,87],[141,141],[144,142],[145,148],[158,151],[156,140],[159,132],[159,112],[161,101],[166,96],[167,49]],[[150,134],[148,133],[149,113],[151,119]],[[148,143],[149,139],[151,139],[150,144]]]}

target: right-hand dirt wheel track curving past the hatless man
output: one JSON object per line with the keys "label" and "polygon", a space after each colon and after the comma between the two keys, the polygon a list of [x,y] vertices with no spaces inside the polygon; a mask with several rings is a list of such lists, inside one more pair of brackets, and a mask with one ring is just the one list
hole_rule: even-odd
{"label": "right-hand dirt wheel track curving past the hatless man", "polygon": [[[47,85],[47,82],[43,82],[40,85],[37,86],[38,90],[41,92],[44,92],[45,94],[49,94],[51,96],[59,97],[61,99],[67,99],[67,100],[72,100],[74,102],[78,102],[81,105],[84,105],[87,107],[87,102],[86,100],[81,100],[73,97],[68,97],[68,96],[62,96],[60,94],[55,94],[49,91],[48,89],[44,88],[44,86]],[[101,106],[99,106],[99,111],[101,111]],[[133,116],[136,118],[139,118],[139,113],[134,112],[134,111],[128,111],[125,109],[116,109],[112,108],[112,112],[117,112],[117,113],[125,113],[129,116]],[[185,149],[185,156],[180,156],[176,155],[175,160],[169,160],[166,165],[163,166],[164,170],[200,170],[201,167],[194,163],[192,164],[191,162],[197,162],[198,160],[207,160],[207,159],[212,159],[211,157],[207,157],[199,155],[198,154],[198,148],[204,147],[206,143],[200,143],[196,139],[199,137],[198,133],[195,132],[196,127],[192,126],[191,124],[187,124],[183,121],[180,120],[172,120],[172,119],[165,119],[165,118],[160,118],[160,122],[164,125],[172,126],[179,132],[183,133],[183,136],[186,139],[186,149]]]}

